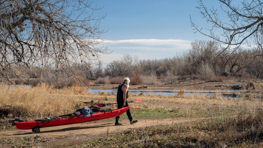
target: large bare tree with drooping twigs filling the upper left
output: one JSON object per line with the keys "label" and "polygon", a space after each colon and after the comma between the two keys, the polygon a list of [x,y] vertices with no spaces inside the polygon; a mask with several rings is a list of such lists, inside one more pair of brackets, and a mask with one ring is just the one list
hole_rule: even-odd
{"label": "large bare tree with drooping twigs filling the upper left", "polygon": [[105,32],[99,27],[104,16],[93,16],[99,9],[86,0],[1,0],[1,78],[24,78],[22,66],[45,70],[54,79],[74,77],[65,69],[97,61],[107,53],[97,47]]}

